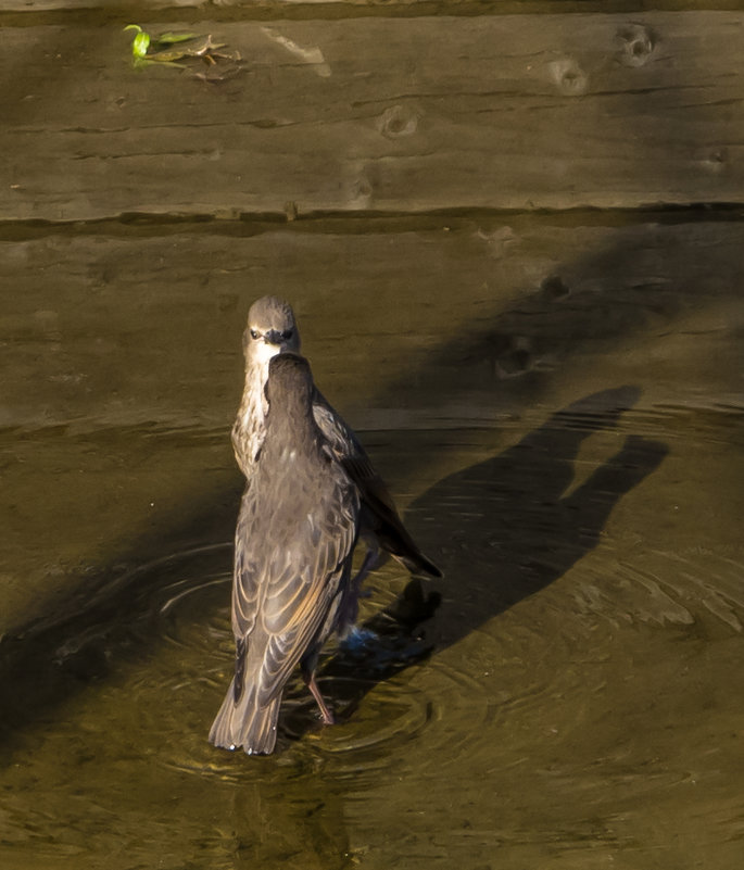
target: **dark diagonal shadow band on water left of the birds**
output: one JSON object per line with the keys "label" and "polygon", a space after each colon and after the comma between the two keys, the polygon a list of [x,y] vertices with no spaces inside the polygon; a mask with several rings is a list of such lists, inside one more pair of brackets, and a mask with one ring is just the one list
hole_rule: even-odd
{"label": "dark diagonal shadow band on water left of the birds", "polygon": [[205,577],[229,571],[227,530],[235,522],[240,493],[237,486],[174,529],[169,552],[179,542],[190,549],[163,555],[162,541],[142,539],[134,547],[138,567],[121,572],[113,566],[127,564],[131,557],[112,558],[112,567],[91,572],[84,583],[74,585],[70,596],[58,598],[18,631],[0,638],[0,740],[12,741],[15,733],[53,718],[59,705],[89,684],[113,677],[124,661],[147,660],[162,642],[156,630],[147,630],[157,593],[184,579],[185,563],[187,582],[203,582]]}

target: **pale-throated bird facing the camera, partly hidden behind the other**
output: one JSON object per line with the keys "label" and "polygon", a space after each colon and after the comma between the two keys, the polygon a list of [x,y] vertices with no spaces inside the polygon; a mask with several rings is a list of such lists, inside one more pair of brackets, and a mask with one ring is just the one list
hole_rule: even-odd
{"label": "pale-throated bird facing the camera, partly hidden behind the other", "polygon": [[[277,354],[300,353],[300,331],[288,302],[267,295],[251,305],[243,332],[244,389],[231,433],[236,461],[249,482],[264,439],[264,384],[269,361]],[[369,571],[383,562],[386,554],[392,555],[412,573],[442,577],[440,569],[421,552],[403,525],[392,495],[354,431],[317,387],[313,390],[313,416],[362,496],[360,538],[366,545],[366,554],[353,580],[356,592]],[[349,602],[345,619],[349,625],[355,618],[354,602],[353,597]]]}

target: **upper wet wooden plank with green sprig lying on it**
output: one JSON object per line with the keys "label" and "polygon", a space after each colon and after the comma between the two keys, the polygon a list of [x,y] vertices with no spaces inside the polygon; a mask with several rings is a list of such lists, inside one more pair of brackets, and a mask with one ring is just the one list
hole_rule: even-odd
{"label": "upper wet wooden plank with green sprig lying on it", "polygon": [[0,219],[744,201],[739,12],[189,28],[242,60],[135,71],[118,22],[7,29]]}

